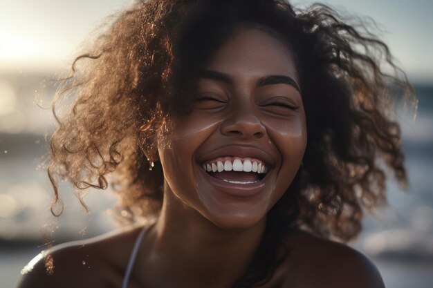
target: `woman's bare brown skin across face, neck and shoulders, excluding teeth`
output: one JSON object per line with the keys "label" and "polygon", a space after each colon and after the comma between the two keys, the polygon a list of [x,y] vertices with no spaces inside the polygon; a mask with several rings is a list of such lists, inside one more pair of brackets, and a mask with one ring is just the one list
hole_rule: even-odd
{"label": "woman's bare brown skin across face, neck and shoulders, excluding teeth", "polygon": [[[160,133],[147,156],[161,161],[164,203],[141,243],[129,287],[230,287],[248,267],[266,213],[291,184],[306,147],[306,119],[291,50],[254,28],[240,28],[197,80],[187,115]],[[203,164],[257,160],[266,176],[214,177]],[[131,229],[53,249],[19,287],[121,287],[133,243]],[[377,269],[353,249],[298,230],[284,240],[288,257],[261,287],[384,287]],[[83,265],[83,261],[86,262]]]}

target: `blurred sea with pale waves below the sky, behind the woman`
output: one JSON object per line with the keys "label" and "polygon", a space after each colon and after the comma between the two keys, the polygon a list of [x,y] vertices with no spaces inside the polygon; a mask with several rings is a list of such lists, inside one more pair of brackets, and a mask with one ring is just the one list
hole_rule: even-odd
{"label": "blurred sea with pale waves below the sky, behind the woman", "polygon": [[[87,214],[62,183],[64,214],[59,219],[50,214],[50,183],[41,166],[53,117],[37,104],[48,106],[55,86],[41,84],[43,79],[46,75],[0,75],[0,288],[12,287],[21,267],[44,248],[41,231],[62,242],[114,227],[116,197],[110,191],[88,193]],[[374,259],[390,288],[432,287],[433,282],[433,86],[415,88],[416,119],[410,109],[398,110],[409,190],[391,181],[389,204],[367,215],[364,230],[351,243]]]}

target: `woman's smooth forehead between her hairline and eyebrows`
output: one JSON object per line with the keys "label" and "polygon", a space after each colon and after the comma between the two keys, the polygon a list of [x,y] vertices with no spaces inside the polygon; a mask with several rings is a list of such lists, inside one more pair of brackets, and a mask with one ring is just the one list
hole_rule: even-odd
{"label": "woman's smooth forehead between her hairline and eyebrows", "polygon": [[[205,66],[233,77],[286,75],[297,80],[293,52],[281,40],[259,28],[239,28]],[[298,81],[298,80],[297,80]]]}

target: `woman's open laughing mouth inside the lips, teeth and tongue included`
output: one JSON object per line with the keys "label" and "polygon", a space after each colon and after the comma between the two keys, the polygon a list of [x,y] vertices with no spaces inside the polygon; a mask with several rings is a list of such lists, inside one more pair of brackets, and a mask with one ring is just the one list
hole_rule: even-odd
{"label": "woman's open laughing mouth inside the lips, teeth and tongue included", "polygon": [[232,184],[254,184],[268,173],[266,164],[254,158],[219,157],[202,167],[210,176]]}

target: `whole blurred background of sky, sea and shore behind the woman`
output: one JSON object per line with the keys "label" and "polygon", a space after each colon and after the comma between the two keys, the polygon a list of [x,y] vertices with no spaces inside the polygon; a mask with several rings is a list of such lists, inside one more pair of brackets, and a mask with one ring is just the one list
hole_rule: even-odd
{"label": "whole blurred background of sky, sea and shore behind the woman", "polygon": [[[59,244],[114,228],[111,191],[89,191],[87,214],[62,183],[64,213],[59,219],[50,214],[44,160],[55,121],[41,107],[48,107],[55,93],[50,79],[68,71],[80,43],[105,16],[129,3],[0,1],[0,288],[14,287],[24,265],[44,250],[42,233],[51,233]],[[409,190],[391,180],[387,207],[367,215],[364,230],[350,244],[374,260],[387,288],[433,287],[433,1],[324,3],[378,23],[381,39],[407,72],[419,101],[416,117],[410,107],[397,111]]]}

